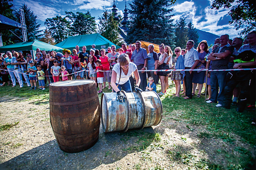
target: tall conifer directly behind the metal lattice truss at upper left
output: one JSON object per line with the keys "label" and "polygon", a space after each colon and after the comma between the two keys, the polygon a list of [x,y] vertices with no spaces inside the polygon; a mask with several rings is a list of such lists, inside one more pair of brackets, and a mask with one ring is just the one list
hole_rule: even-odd
{"label": "tall conifer directly behind the metal lattice truss at upper left", "polygon": [[[39,39],[42,34],[40,34],[41,30],[39,30],[39,27],[41,24],[37,22],[37,15],[34,14],[34,12],[28,7],[26,4],[21,4],[21,9],[24,10],[24,19],[25,24],[27,26],[27,39],[28,40],[34,40]],[[20,12],[19,9],[14,11],[15,20],[20,23]],[[21,29],[15,29],[14,33],[20,37],[20,39],[23,39],[22,31]],[[15,43],[21,42],[19,38],[16,36],[12,36],[12,39]]]}

